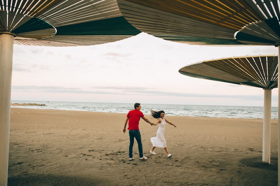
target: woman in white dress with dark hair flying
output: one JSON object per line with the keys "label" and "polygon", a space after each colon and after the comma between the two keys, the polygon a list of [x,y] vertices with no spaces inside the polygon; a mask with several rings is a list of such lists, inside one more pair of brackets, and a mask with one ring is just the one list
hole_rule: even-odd
{"label": "woman in white dress with dark hair flying", "polygon": [[156,123],[153,123],[153,125],[157,125],[158,124],[158,130],[156,132],[156,137],[152,137],[151,138],[151,142],[153,144],[153,147],[150,151],[150,153],[152,154],[156,154],[154,152],[154,149],[156,147],[161,147],[161,148],[164,148],[165,152],[167,153],[167,157],[171,157],[172,154],[170,154],[167,150],[167,147],[166,147],[166,140],[164,138],[164,133],[165,133],[165,126],[166,126],[166,123],[170,124],[170,125],[173,125],[174,127],[177,127],[176,125],[174,125],[173,123],[167,121],[167,119],[164,118],[164,111],[161,110],[161,111],[153,111],[151,109],[151,114],[152,114],[152,117],[153,118],[156,118],[157,121]]}

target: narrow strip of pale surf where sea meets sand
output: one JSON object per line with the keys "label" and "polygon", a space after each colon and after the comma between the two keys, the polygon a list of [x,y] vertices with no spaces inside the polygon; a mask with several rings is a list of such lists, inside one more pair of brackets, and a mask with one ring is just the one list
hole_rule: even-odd
{"label": "narrow strip of pale surf where sea meets sand", "polygon": [[[12,108],[20,108],[17,106],[11,106]],[[85,110],[61,110],[61,109],[48,109],[48,108],[22,108],[22,109],[35,109],[35,110],[60,110],[60,111],[78,111],[78,112],[93,112],[93,113],[115,113],[115,112],[97,112],[97,111],[85,111]],[[129,110],[127,111],[127,113],[129,112]],[[115,113],[115,114],[127,114],[127,113]],[[144,114],[149,116],[150,114]],[[183,115],[166,115],[166,116],[175,116],[175,117],[205,117],[205,118],[229,118],[229,119],[261,119],[263,120],[263,118],[244,118],[244,117],[210,117],[210,116],[183,116]],[[271,119],[272,120],[278,120],[278,119]]]}

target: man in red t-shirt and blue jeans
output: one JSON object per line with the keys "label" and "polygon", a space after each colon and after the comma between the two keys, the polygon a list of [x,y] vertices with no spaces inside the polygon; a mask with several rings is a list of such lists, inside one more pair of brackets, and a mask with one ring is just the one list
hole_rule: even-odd
{"label": "man in red t-shirt and blue jeans", "polygon": [[131,110],[128,112],[127,114],[127,118],[125,120],[124,123],[124,130],[123,132],[125,133],[126,131],[126,125],[128,122],[128,130],[129,130],[129,160],[134,160],[133,156],[132,156],[132,148],[133,148],[133,144],[134,144],[134,138],[136,139],[137,143],[138,143],[138,150],[139,150],[139,159],[140,160],[146,160],[148,159],[147,157],[145,157],[143,155],[143,148],[142,148],[142,142],[141,142],[141,134],[139,131],[139,120],[140,117],[142,117],[143,120],[145,120],[145,122],[150,123],[151,125],[153,125],[153,123],[151,123],[146,117],[144,117],[143,113],[140,111],[141,110],[141,105],[140,103],[135,103],[134,104],[134,110]]}

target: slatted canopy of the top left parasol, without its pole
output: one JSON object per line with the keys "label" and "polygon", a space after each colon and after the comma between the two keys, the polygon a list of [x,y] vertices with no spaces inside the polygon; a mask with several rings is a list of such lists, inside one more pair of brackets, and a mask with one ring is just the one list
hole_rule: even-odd
{"label": "slatted canopy of the top left parasol, without its pole", "polygon": [[141,33],[124,19],[116,0],[0,1],[0,33],[15,44],[84,46],[119,41]]}

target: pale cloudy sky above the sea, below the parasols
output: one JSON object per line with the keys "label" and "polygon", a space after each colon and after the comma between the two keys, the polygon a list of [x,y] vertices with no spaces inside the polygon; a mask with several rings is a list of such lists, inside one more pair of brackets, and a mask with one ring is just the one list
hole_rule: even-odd
{"label": "pale cloudy sky above the sea, below the parasols", "polygon": [[[263,106],[261,88],[178,72],[203,60],[277,54],[274,46],[198,46],[146,33],[83,47],[14,45],[12,100]],[[277,88],[272,106],[277,107]]]}

